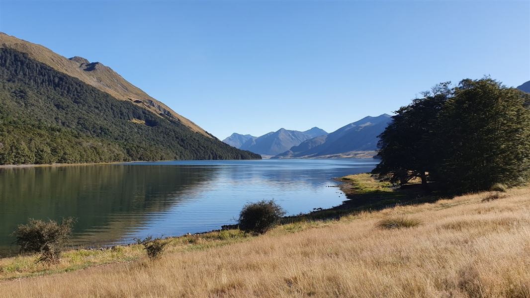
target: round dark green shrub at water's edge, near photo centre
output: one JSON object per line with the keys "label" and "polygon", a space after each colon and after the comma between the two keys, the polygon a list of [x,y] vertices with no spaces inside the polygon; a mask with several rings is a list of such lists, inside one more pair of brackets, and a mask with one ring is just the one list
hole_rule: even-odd
{"label": "round dark green shrub at water's edge, near photo centre", "polygon": [[278,224],[284,215],[284,209],[272,200],[249,203],[239,214],[239,228],[245,232],[263,234]]}

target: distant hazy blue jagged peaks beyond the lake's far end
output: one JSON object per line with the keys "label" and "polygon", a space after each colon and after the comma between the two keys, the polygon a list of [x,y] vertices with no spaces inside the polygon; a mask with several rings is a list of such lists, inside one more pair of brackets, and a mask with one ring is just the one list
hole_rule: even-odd
{"label": "distant hazy blue jagged peaks beyond the lake's far end", "polygon": [[253,137],[250,134],[233,133],[223,142],[242,150],[248,150],[260,155],[275,156],[299,143],[318,136],[328,134],[323,129],[314,127],[306,131],[287,130],[281,128],[269,132],[261,137]]}

